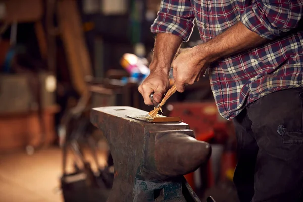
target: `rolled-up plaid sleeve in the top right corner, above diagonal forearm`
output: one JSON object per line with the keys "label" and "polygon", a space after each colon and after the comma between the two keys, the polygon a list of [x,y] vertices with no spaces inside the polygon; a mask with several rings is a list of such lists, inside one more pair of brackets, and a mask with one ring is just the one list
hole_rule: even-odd
{"label": "rolled-up plaid sleeve in the top right corner, above diagonal forearm", "polygon": [[274,39],[298,27],[303,1],[252,1],[241,15],[241,22],[263,38]]}

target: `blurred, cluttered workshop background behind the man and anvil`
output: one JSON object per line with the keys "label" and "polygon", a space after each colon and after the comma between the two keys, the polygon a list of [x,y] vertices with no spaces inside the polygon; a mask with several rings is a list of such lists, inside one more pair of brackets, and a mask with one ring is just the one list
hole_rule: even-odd
{"label": "blurred, cluttered workshop background behind the man and anvil", "polygon": [[[153,109],[137,88],[149,74],[159,6],[160,0],[0,1],[0,201],[105,201],[114,165],[90,109]],[[182,47],[200,42],[195,28]],[[212,145],[207,164],[185,176],[201,200],[237,201],[235,134],[218,114],[207,74],[175,93],[163,114],[180,116]]]}

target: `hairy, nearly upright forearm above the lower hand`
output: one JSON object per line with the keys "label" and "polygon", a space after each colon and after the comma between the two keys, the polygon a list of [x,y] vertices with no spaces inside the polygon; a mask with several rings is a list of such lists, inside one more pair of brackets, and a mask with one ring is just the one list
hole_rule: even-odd
{"label": "hairy, nearly upright forearm above the lower hand", "polygon": [[159,33],[156,36],[153,61],[150,70],[164,70],[169,72],[171,63],[182,43],[182,38],[169,33]]}

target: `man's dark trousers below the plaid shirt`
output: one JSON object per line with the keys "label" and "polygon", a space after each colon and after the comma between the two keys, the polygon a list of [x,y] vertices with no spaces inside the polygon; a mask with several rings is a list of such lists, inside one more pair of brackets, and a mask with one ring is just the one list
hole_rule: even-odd
{"label": "man's dark trousers below the plaid shirt", "polygon": [[240,201],[303,201],[303,88],[258,99],[234,124]]}

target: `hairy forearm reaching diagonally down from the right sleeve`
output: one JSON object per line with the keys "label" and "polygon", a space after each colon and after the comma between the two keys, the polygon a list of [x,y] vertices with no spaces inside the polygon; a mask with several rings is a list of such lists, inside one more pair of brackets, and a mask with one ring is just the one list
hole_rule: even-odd
{"label": "hairy forearm reaching diagonally down from the right sleeve", "polygon": [[267,40],[238,22],[214,39],[199,45],[197,54],[205,53],[206,56],[204,55],[202,58],[213,62],[219,58],[257,47]]}

